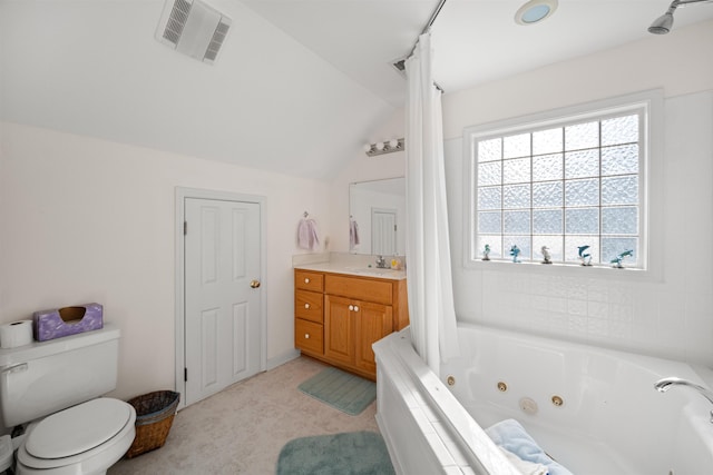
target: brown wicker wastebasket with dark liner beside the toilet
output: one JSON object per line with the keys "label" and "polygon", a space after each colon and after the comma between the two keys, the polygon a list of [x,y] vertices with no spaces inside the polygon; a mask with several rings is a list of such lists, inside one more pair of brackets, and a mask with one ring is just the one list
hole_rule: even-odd
{"label": "brown wicker wastebasket with dark liner beside the toilet", "polygon": [[180,395],[173,390],[156,390],[128,400],[136,409],[136,437],[126,453],[126,458],[164,446],[179,397]]}

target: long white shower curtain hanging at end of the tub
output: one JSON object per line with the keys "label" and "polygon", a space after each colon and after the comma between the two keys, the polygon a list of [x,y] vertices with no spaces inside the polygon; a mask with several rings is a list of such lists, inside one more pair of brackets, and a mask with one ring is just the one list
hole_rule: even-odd
{"label": "long white shower curtain hanging at end of the tub", "polygon": [[457,356],[443,164],[441,92],[431,73],[431,33],[406,61],[407,277],[411,338],[436,373]]}

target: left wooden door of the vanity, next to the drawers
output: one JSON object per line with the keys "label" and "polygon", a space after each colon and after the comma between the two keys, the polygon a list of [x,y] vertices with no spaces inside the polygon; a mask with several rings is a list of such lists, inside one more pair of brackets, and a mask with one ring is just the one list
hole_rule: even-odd
{"label": "left wooden door of the vanity, next to the drawers", "polygon": [[324,296],[324,356],[354,364],[354,300]]}

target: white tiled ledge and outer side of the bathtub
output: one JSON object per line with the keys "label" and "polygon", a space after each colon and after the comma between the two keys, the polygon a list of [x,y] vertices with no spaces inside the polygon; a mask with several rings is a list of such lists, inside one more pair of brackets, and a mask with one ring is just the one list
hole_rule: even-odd
{"label": "white tiled ledge and outer side of the bathtub", "polygon": [[377,424],[398,474],[520,475],[417,355],[408,327],[373,349]]}

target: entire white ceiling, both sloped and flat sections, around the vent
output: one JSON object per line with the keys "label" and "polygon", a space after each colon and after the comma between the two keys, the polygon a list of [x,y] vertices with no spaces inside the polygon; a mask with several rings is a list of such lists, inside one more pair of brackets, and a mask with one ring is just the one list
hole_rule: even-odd
{"label": "entire white ceiling, both sloped and flat sections, around the vent", "polygon": [[[329,179],[403,105],[391,62],[438,4],[206,2],[233,21],[213,66],[154,39],[164,0],[0,0],[0,119]],[[550,19],[521,27],[520,3],[446,2],[433,43],[447,93],[646,38],[668,6],[559,0]],[[673,33],[713,19],[713,4],[675,18]]]}

